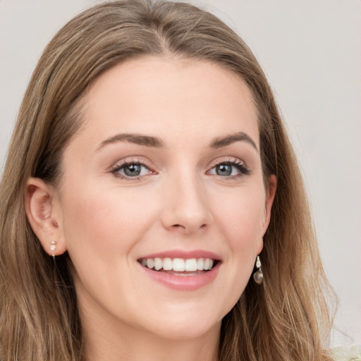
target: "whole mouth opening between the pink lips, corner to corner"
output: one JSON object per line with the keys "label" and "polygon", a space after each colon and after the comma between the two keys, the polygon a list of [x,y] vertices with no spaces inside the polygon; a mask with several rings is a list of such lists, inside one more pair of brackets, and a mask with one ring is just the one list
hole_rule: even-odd
{"label": "whole mouth opening between the pink lips, corner to corner", "polygon": [[213,269],[217,260],[212,258],[141,258],[138,262],[152,271],[166,272],[178,276],[196,276]]}

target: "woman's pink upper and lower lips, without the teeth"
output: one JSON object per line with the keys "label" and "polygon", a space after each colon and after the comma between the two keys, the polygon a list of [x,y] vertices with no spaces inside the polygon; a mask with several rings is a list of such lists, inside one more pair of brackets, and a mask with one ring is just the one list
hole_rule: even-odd
{"label": "woman's pink upper and lower lips, without the teeth", "polygon": [[[212,258],[220,260],[220,257],[212,252],[207,252],[203,250],[195,250],[192,252],[187,251],[170,251],[170,252],[161,252],[161,253],[154,253],[152,255],[145,255],[141,257],[142,259],[145,258],[183,258],[183,259],[190,259],[190,258]],[[221,266],[221,262],[217,262],[217,264],[210,270],[204,271],[202,274],[197,274],[195,276],[176,276],[173,274],[167,274],[160,271],[154,271],[147,267],[142,266],[142,270],[145,271],[145,274],[149,276],[154,281],[161,283],[162,285],[169,287],[173,290],[182,290],[182,291],[191,291],[197,290],[204,286],[207,286],[209,283],[212,283],[216,278],[219,267]]]}

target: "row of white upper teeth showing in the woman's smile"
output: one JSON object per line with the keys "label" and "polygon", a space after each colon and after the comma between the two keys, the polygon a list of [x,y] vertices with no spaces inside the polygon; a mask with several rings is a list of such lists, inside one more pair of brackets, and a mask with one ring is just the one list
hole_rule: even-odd
{"label": "row of white upper teeth showing in the woman's smile", "polygon": [[209,271],[212,269],[214,260],[210,258],[143,258],[140,260],[142,266],[149,269],[164,269],[164,271],[177,271],[177,272],[194,272],[194,271]]}

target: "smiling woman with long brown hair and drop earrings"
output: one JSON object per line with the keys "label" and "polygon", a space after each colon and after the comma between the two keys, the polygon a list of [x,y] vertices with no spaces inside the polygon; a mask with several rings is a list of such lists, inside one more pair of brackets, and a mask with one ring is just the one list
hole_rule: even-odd
{"label": "smiling woman with long brown hair and drop earrings", "polygon": [[293,150],[211,14],[116,1],[65,25],[0,192],[1,360],[332,360]]}

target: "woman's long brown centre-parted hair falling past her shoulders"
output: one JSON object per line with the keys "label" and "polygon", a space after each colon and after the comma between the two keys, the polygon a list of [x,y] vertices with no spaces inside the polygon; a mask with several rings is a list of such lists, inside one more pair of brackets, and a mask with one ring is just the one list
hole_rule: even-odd
{"label": "woman's long brown centre-parted hair falling past her shoulders", "polygon": [[264,179],[277,177],[265,282],[250,281],[224,317],[219,360],[330,360],[325,295],[332,293],[267,78],[243,40],[212,14],[140,0],[107,2],[73,18],[44,49],[27,87],[0,185],[0,359],[82,360],[71,260],[65,254],[54,263],[42,250],[25,214],[25,183],[34,176],[56,187],[63,149],[82,121],[82,94],[106,69],[145,54],[212,61],[243,78],[257,105]]}

